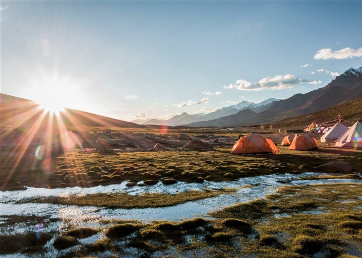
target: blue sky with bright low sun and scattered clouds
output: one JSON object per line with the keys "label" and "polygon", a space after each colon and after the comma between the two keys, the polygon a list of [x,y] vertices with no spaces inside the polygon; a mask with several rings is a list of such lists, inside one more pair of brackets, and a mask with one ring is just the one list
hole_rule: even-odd
{"label": "blue sky with bright low sun and scattered clouds", "polygon": [[1,93],[126,121],[285,99],[362,66],[361,1],[0,4]]}

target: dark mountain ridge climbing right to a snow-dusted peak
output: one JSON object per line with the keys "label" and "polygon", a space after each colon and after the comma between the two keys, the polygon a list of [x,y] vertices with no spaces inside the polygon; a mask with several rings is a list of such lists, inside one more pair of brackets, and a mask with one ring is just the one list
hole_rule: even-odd
{"label": "dark mountain ridge climbing right to a snow-dusted peak", "polygon": [[[264,105],[263,110],[240,120],[240,114],[228,117],[228,120],[214,120],[209,123],[190,123],[184,126],[249,126],[269,124],[279,120],[317,112],[362,97],[362,67],[349,68],[326,86],[304,94],[295,94],[284,100]],[[252,110],[251,108],[249,108]],[[223,121],[223,123],[221,122]]]}

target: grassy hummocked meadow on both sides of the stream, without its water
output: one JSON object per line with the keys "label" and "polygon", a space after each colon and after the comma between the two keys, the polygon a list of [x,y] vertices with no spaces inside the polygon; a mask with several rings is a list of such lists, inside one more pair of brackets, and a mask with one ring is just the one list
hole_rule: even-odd
{"label": "grassy hummocked meadow on both sides of the stream, without its water", "polygon": [[[319,141],[320,148],[317,150],[288,150],[288,146],[280,146],[288,133],[278,133],[279,129],[77,127],[70,130],[79,135],[83,148],[52,151],[39,158],[34,153],[42,144],[40,136],[33,139],[22,156],[10,144],[3,144],[0,155],[1,190],[24,190],[26,187],[89,188],[122,182],[130,189],[156,188],[157,184],[173,188],[179,182],[232,182],[261,175],[303,172],[323,172],[319,176],[304,178],[316,183],[321,179],[361,179],[357,174],[343,174],[337,169],[322,170],[317,166],[342,160],[353,167],[353,172],[362,172],[362,150],[336,148]],[[278,143],[281,152],[275,155],[230,154],[238,135],[252,132],[264,133],[262,136]],[[188,140],[179,139],[181,133],[208,142],[214,149],[184,149],[182,146]],[[317,140],[321,136],[318,133],[310,135]],[[100,138],[112,144],[114,150],[97,152],[95,146]],[[168,151],[148,150],[155,144],[162,144]],[[58,257],[302,258],[315,254],[319,254],[319,257],[359,257],[362,254],[360,186],[358,183],[286,185],[264,198],[237,203],[210,212],[205,217],[178,222],[102,219],[97,221],[97,226],[83,227],[79,223],[57,218],[0,215],[0,255],[20,252],[24,257],[36,257],[56,250]],[[18,203],[110,209],[160,208],[233,194],[237,190],[220,188],[176,194],[83,194],[24,198]],[[39,235],[34,227],[40,221],[45,230]],[[60,228],[57,226],[59,224],[62,225]],[[13,233],[15,227],[24,230]],[[92,241],[85,241],[87,239]]]}

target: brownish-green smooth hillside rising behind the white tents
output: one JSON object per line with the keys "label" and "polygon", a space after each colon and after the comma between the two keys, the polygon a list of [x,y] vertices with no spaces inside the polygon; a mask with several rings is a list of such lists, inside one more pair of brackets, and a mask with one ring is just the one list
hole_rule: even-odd
{"label": "brownish-green smooth hillside rising behind the white tents", "polygon": [[[318,112],[288,118],[285,120],[272,123],[273,127],[298,127],[306,126],[311,124],[313,121],[317,124],[323,125],[325,122],[333,121],[338,119],[338,115],[341,115],[343,120],[356,122],[357,120],[362,120],[362,97],[354,99],[352,101],[339,104],[337,106],[324,109]],[[331,124],[335,124],[333,122]]]}

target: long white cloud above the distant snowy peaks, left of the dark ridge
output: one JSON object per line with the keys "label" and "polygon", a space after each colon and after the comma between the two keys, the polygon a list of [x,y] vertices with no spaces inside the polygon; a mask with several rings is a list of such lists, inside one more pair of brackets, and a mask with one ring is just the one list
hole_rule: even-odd
{"label": "long white cloud above the distant snowy peaks, left of the dark ridge", "polygon": [[280,90],[286,88],[293,88],[295,85],[302,82],[310,82],[309,79],[300,79],[292,74],[277,75],[275,77],[267,77],[261,79],[257,83],[251,83],[246,80],[237,80],[235,84],[224,86],[224,89],[238,89],[238,90],[253,90],[259,91],[263,89]]}

